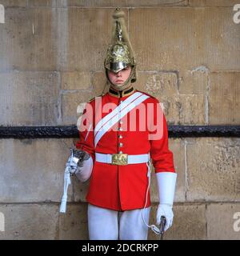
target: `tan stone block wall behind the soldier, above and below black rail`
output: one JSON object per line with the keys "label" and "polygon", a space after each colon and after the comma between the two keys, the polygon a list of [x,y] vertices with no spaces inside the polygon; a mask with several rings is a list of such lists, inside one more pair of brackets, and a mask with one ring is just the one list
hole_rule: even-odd
{"label": "tan stone block wall behind the soldier, above and below black rail", "polygon": [[[240,24],[234,0],[0,0],[0,126],[77,122],[101,94],[111,14],[126,13],[139,90],[163,103],[170,125],[240,125]],[[87,239],[76,178],[59,214],[71,138],[0,140],[0,239]],[[167,239],[240,239],[240,139],[170,138],[178,185]],[[153,176],[151,222],[158,206]],[[149,239],[158,239],[151,231]]]}

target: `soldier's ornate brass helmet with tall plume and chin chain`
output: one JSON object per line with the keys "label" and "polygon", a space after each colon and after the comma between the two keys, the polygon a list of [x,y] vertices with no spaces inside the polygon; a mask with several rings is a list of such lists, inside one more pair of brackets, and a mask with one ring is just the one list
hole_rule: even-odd
{"label": "soldier's ornate brass helmet with tall plume and chin chain", "polygon": [[[106,59],[104,61],[106,78],[110,82],[107,70],[117,73],[118,71],[126,68],[126,66],[132,66],[130,77],[124,83],[124,85],[126,85],[128,82],[136,82],[137,80],[134,51],[126,30],[124,12],[119,10],[119,8],[116,8],[113,18],[112,42],[110,46],[108,46]],[[122,85],[122,88],[124,88],[124,85]]]}

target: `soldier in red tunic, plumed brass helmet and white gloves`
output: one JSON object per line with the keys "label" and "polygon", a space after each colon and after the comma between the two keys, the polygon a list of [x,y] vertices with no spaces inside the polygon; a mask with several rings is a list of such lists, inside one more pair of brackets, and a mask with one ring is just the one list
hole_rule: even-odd
{"label": "soldier in red tunic, plumed brass helmet and white gloves", "polygon": [[[90,100],[83,111],[80,139],[74,150],[80,160],[71,172],[82,182],[90,178],[86,195],[90,239],[145,240],[148,227],[159,234],[156,226],[149,225],[150,159],[158,182],[156,223],[159,225],[161,216],[165,216],[165,230],[174,218],[177,174],[158,99],[133,86],[136,63],[124,13],[117,8],[113,18],[112,42],[104,62],[110,88]],[[153,106],[150,111],[149,105]],[[134,112],[138,107],[139,112]],[[140,129],[142,124],[146,124],[145,130]],[[131,125],[135,125],[133,130]]]}

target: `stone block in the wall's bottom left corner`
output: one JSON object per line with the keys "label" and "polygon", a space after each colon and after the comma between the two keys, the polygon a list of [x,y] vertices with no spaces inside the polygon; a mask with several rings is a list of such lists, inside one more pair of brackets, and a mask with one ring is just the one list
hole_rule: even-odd
{"label": "stone block in the wall's bottom left corner", "polygon": [[58,238],[58,206],[54,204],[0,205],[5,215],[1,240],[54,240]]}

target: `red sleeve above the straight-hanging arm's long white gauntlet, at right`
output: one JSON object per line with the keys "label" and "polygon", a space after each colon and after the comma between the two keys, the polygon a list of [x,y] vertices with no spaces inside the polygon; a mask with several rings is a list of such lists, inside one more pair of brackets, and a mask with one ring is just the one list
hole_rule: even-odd
{"label": "red sleeve above the straight-hanging arm's long white gauntlet, at right", "polygon": [[173,153],[168,147],[168,130],[166,118],[158,100],[154,102],[154,126],[150,130],[150,156],[158,172],[175,172]]}

